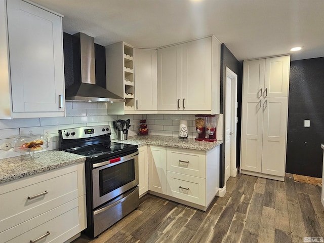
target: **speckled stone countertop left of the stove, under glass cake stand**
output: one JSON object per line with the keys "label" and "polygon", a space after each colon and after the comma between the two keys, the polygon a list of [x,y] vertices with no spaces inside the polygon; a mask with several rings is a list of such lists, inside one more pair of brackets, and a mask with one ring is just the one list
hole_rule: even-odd
{"label": "speckled stone countertop left of the stove, under glass cake stand", "polygon": [[0,159],[0,183],[31,176],[45,171],[57,169],[83,162],[85,156],[58,150],[35,153],[38,158],[30,159],[30,155]]}

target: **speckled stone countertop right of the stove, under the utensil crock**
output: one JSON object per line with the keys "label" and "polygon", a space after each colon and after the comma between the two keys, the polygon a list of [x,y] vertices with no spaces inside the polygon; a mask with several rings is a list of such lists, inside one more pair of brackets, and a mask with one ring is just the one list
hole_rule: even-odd
{"label": "speckled stone countertop right of the stove, under the utensil crock", "polygon": [[160,145],[167,147],[176,147],[176,148],[187,148],[187,149],[195,149],[195,150],[203,150],[209,151],[220,144],[223,143],[222,140],[216,142],[205,142],[205,141],[196,141],[194,138],[188,139],[179,139],[178,137],[170,137],[170,136],[158,136],[158,135],[137,135],[128,137],[127,140],[111,140],[111,142],[115,143],[127,143],[138,146],[143,145]]}

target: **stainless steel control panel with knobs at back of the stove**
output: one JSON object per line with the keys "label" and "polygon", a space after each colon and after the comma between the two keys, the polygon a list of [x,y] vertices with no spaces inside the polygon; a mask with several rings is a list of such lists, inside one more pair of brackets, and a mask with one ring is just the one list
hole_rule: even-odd
{"label": "stainless steel control panel with knobs at back of the stove", "polygon": [[111,134],[110,126],[92,126],[92,127],[81,127],[81,128],[69,128],[62,129],[59,131],[62,134],[63,139],[79,139],[96,137],[104,134]]}

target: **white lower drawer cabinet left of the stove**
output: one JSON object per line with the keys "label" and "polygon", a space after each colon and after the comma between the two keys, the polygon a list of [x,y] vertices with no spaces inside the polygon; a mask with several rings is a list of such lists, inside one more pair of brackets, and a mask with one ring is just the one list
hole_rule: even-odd
{"label": "white lower drawer cabinet left of the stove", "polygon": [[62,243],[86,228],[84,163],[3,183],[0,242]]}

